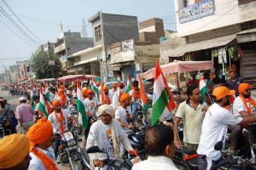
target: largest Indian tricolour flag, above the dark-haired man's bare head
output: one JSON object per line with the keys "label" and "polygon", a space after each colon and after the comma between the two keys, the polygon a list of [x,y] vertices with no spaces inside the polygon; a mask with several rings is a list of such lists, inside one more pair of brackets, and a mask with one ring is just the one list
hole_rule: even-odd
{"label": "largest Indian tricolour flag, above the dark-haired man's bare head", "polygon": [[162,121],[166,116],[170,116],[172,109],[176,107],[172,93],[166,78],[164,77],[160,65],[157,62],[154,70],[154,94],[152,106],[152,122],[155,125]]}

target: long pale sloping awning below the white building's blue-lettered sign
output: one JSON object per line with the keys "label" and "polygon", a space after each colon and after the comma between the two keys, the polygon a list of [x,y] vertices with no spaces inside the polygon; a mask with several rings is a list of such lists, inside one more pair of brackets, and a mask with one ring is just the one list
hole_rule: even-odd
{"label": "long pale sloping awning below the white building's blue-lettered sign", "polygon": [[216,37],[208,39],[201,42],[192,42],[186,43],[178,46],[177,48],[171,48],[169,51],[166,51],[163,57],[179,57],[183,56],[185,53],[192,51],[199,51],[201,49],[221,47],[229,42],[233,41],[236,38],[236,35],[229,35],[224,37]]}

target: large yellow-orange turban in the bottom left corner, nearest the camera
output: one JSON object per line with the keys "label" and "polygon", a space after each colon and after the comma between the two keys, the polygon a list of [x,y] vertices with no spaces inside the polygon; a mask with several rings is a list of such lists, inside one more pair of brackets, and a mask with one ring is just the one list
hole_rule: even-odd
{"label": "large yellow-orange turban in the bottom left corner, nearest the camera", "polygon": [[0,140],[0,169],[15,167],[29,153],[29,139],[24,134],[11,134]]}

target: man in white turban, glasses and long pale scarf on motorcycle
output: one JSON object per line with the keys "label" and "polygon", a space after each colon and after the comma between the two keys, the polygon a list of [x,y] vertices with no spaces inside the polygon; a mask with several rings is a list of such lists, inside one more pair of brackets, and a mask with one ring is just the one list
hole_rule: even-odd
{"label": "man in white turban, glasses and long pale scarf on motorcycle", "polygon": [[[136,151],[132,149],[125,131],[120,127],[119,122],[113,119],[113,107],[111,105],[101,105],[98,112],[101,120],[93,123],[90,127],[86,149],[97,145],[101,150],[108,152],[109,158],[120,160],[119,143],[121,143],[131,154],[135,154]],[[90,163],[92,167],[104,167],[103,159],[105,158],[107,158],[106,154],[100,156],[90,154]]]}

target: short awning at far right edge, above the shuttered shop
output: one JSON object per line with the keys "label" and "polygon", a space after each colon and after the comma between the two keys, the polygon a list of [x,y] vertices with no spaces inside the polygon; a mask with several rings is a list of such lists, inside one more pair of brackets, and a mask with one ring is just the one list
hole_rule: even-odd
{"label": "short awning at far right edge, above the shuttered shop", "polygon": [[236,39],[238,43],[256,41],[256,28],[236,33]]}

